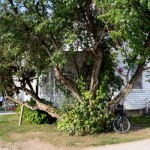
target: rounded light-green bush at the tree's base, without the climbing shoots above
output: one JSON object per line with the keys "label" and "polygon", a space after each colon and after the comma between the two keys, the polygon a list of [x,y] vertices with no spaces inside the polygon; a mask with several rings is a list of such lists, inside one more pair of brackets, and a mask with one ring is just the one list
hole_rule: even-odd
{"label": "rounded light-green bush at the tree's base, without the climbing shoots above", "polygon": [[83,100],[75,102],[70,110],[63,113],[58,121],[58,130],[67,131],[71,135],[85,135],[107,132],[111,127],[111,113],[108,103]]}

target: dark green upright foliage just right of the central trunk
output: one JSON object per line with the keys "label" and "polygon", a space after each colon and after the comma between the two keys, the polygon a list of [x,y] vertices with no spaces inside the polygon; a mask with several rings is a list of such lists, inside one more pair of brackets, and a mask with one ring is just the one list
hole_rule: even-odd
{"label": "dark green upright foliage just right of the central trunk", "polygon": [[98,99],[108,99],[111,98],[115,91],[120,90],[121,87],[124,85],[123,79],[116,75],[116,70],[114,69],[114,58],[109,51],[109,47],[106,48],[103,62],[101,67],[101,74],[100,74],[100,86],[97,90],[97,97]]}

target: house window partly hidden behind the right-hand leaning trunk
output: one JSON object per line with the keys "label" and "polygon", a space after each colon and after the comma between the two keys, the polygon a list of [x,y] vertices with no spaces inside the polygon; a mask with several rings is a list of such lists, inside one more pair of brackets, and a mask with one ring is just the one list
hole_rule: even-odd
{"label": "house window partly hidden behind the right-hand leaning trunk", "polygon": [[[134,66],[131,68],[131,77],[136,72],[136,69],[137,69],[137,66]],[[143,77],[142,77],[142,75],[138,78],[138,80],[134,84],[133,89],[143,89]]]}

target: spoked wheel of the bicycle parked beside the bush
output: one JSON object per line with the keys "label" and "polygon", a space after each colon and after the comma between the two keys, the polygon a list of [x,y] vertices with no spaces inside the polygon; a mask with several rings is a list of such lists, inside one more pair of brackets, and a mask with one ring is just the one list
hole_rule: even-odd
{"label": "spoked wheel of the bicycle parked beside the bush", "polygon": [[113,121],[113,130],[118,133],[126,133],[130,129],[130,122],[124,116],[117,116]]}

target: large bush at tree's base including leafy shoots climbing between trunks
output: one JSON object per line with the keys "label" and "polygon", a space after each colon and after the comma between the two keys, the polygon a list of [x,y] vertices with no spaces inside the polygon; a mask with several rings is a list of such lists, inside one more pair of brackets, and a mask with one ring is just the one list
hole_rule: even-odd
{"label": "large bush at tree's base including leafy shoots climbing between trunks", "polygon": [[122,85],[122,80],[114,74],[114,70],[109,63],[104,66],[107,69],[103,68],[106,72],[101,76],[103,82],[99,90],[97,90],[95,99],[93,99],[90,91],[86,91],[83,77],[80,76],[77,80],[83,101],[75,101],[64,107],[63,119],[58,122],[57,126],[59,130],[65,130],[71,135],[94,134],[111,130],[113,116],[109,111],[106,99],[112,96],[114,91],[112,93],[108,91],[108,84],[111,84],[111,79],[113,78],[112,81],[115,81],[115,83],[112,84],[118,83],[114,89],[119,89]]}

